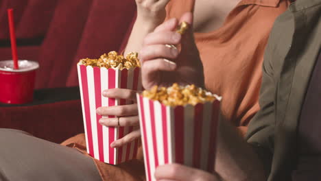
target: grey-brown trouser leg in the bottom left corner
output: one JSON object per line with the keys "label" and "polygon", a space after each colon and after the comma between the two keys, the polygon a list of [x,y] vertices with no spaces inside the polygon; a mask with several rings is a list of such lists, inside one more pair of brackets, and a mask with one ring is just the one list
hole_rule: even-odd
{"label": "grey-brown trouser leg in the bottom left corner", "polygon": [[19,130],[0,129],[0,180],[102,180],[95,163],[76,149]]}

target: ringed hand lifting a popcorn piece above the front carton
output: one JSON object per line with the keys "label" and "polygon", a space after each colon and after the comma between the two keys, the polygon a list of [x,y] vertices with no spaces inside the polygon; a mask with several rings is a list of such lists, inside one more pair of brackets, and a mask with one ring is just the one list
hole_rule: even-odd
{"label": "ringed hand lifting a popcorn piece above the front carton", "polygon": [[[204,87],[202,62],[193,38],[191,12],[185,13],[180,19],[182,21],[190,25],[183,36],[175,32],[178,20],[171,19],[145,37],[143,48],[139,52],[144,88],[169,86],[174,82]],[[179,43],[181,51],[168,46]]]}

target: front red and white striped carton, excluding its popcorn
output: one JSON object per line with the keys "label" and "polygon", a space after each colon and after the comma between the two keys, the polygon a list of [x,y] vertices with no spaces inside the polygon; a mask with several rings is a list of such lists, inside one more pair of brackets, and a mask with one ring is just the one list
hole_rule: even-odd
{"label": "front red and white striped carton, excluding its popcorn", "polygon": [[164,106],[137,94],[147,181],[158,165],[179,163],[213,171],[219,101]]}

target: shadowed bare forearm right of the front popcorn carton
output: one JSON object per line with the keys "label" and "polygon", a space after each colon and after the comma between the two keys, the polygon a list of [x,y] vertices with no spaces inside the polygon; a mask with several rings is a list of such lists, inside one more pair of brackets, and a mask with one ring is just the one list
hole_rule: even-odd
{"label": "shadowed bare forearm right of the front popcorn carton", "polygon": [[261,160],[227,121],[219,123],[215,171],[224,180],[266,180]]}

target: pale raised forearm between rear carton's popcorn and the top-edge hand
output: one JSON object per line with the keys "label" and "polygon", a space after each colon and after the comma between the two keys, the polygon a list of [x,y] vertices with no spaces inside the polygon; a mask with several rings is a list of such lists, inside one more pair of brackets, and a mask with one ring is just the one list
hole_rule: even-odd
{"label": "pale raised forearm between rear carton's popcorn and the top-edge hand", "polygon": [[130,53],[131,51],[138,52],[141,49],[145,36],[154,31],[156,26],[157,25],[154,23],[148,23],[146,21],[143,21],[142,19],[137,18],[123,54],[127,55],[127,53]]}

